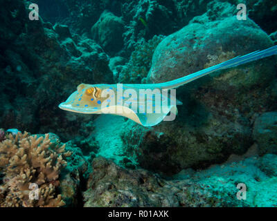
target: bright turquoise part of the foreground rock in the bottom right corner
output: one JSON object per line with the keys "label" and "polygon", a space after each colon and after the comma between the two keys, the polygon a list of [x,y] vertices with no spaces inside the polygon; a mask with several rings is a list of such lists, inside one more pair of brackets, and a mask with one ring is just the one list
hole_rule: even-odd
{"label": "bright turquoise part of the foreground rock in the bottom right corner", "polygon": [[[175,179],[193,180],[229,206],[274,206],[277,202],[277,177],[273,175],[276,172],[274,165],[265,167],[271,164],[269,160],[276,160],[276,155],[251,155],[203,171],[181,171]],[[247,188],[246,200],[237,198],[239,183]]]}

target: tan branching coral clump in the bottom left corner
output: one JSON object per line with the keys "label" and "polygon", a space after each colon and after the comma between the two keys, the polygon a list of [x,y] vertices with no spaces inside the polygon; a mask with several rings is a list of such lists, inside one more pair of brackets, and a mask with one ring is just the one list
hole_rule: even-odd
{"label": "tan branching coral clump in the bottom left corner", "polygon": [[[63,206],[62,195],[56,186],[60,171],[66,166],[65,145],[52,144],[49,135],[37,137],[28,133],[8,135],[0,143],[0,206]],[[30,184],[38,186],[39,199],[29,198]]]}

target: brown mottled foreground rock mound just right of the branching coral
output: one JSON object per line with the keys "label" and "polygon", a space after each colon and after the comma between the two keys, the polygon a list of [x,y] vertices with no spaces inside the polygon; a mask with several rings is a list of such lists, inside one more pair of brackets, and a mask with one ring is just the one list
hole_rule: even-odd
{"label": "brown mottled foreground rock mound just right of the branching coral", "polygon": [[186,181],[167,182],[145,170],[122,169],[103,157],[93,160],[84,206],[215,206],[224,200]]}

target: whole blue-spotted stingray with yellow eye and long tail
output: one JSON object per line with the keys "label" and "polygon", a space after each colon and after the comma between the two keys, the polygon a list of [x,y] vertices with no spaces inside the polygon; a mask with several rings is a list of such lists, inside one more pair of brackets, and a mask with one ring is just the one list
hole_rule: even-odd
{"label": "whole blue-spotted stingray with yellow eye and long tail", "polygon": [[[175,98],[174,96],[170,95],[168,97],[162,92],[160,97],[158,97],[159,99],[157,99],[156,95],[152,97],[146,95],[145,97],[145,95],[141,95],[141,90],[162,91],[178,88],[215,71],[233,68],[276,54],[277,46],[273,46],[244,56],[238,56],[185,77],[159,84],[80,84],[77,90],[59,107],[65,111],[75,113],[121,115],[143,126],[154,126],[168,117],[168,113],[177,115],[177,105],[181,104],[181,102],[172,99],[172,97]],[[141,99],[141,96],[143,99]],[[160,106],[163,111],[153,111],[153,109],[156,110],[154,106]],[[144,111],[138,111],[140,108],[144,108]],[[151,110],[145,111],[148,108]]]}

